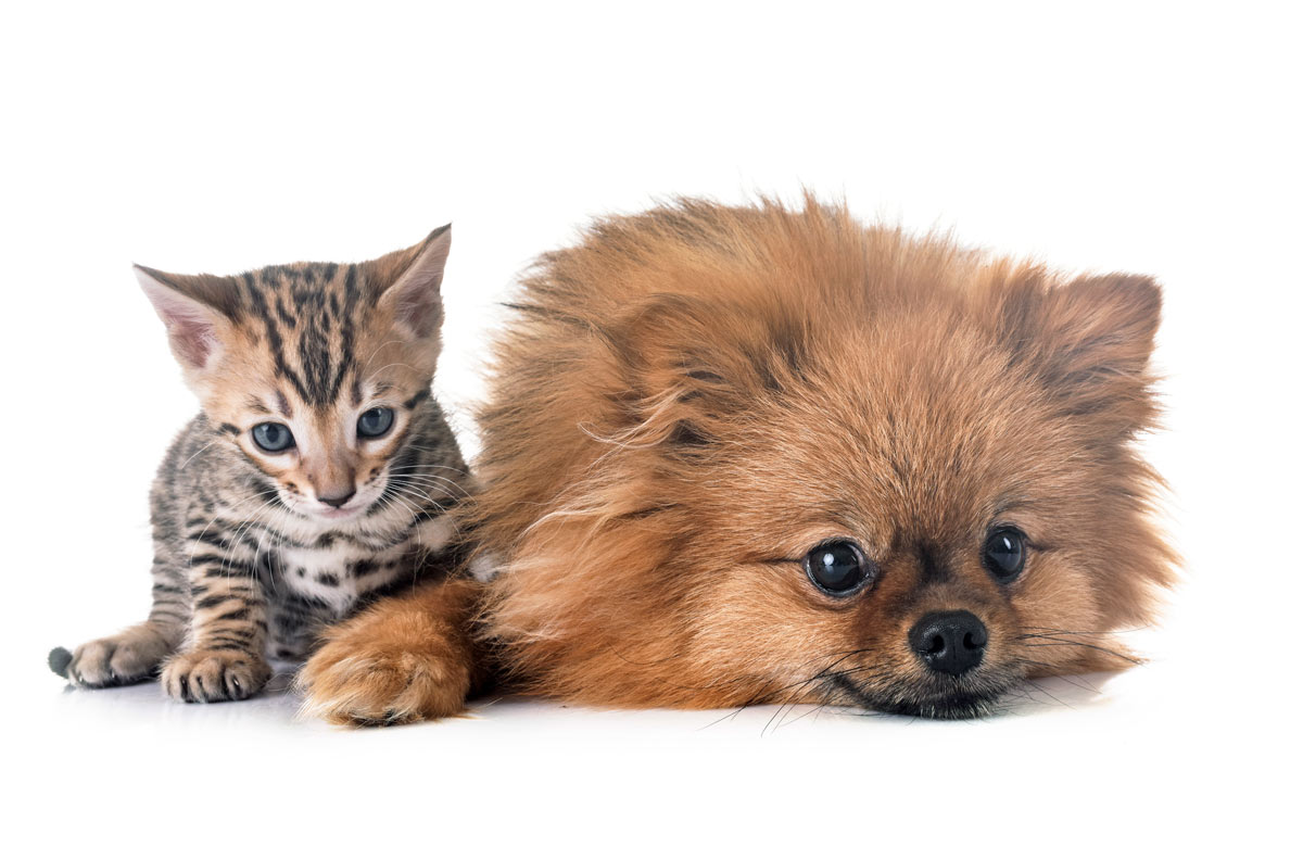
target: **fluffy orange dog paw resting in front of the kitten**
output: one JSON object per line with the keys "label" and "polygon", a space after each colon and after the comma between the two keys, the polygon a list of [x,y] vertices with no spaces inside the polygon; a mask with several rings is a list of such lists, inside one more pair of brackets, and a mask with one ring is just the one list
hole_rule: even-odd
{"label": "fluffy orange dog paw resting in front of the kitten", "polygon": [[399,725],[465,709],[470,667],[438,640],[403,641],[374,624],[345,626],[298,673],[305,717]]}

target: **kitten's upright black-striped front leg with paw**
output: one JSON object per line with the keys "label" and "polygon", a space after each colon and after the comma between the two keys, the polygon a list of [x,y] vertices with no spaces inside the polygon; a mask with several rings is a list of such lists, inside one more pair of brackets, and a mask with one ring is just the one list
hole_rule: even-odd
{"label": "kitten's upright black-striped front leg with paw", "polygon": [[163,690],[179,701],[238,701],[271,678],[263,657],[267,602],[253,562],[205,558],[190,572],[190,645],[163,666]]}

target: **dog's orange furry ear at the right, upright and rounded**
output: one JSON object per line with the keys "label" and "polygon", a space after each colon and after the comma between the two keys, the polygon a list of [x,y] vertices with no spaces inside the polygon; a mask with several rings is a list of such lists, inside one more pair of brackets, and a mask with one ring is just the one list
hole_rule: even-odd
{"label": "dog's orange furry ear at the right, upright and rounded", "polygon": [[1162,309],[1152,278],[1083,276],[1058,288],[1040,278],[1005,296],[1001,334],[1065,413],[1131,435],[1156,416],[1149,357]]}

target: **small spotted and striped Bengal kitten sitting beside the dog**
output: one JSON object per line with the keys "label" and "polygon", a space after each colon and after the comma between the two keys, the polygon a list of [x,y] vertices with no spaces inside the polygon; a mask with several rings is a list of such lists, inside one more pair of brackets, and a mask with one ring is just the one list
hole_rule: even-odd
{"label": "small spotted and striped Bengal kitten sitting beside the dog", "polygon": [[430,395],[448,227],[360,265],[240,276],[137,266],[202,412],[151,491],[154,607],[51,667],[79,687],[162,667],[182,701],[249,697],[267,657],[440,575],[468,473]]}

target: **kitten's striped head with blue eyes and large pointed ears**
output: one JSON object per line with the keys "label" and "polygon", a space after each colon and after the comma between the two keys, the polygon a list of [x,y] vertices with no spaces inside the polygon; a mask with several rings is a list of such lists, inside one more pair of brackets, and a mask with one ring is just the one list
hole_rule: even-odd
{"label": "kitten's striped head with blue eyes and large pointed ears", "polygon": [[439,356],[450,227],[357,265],[136,272],[211,424],[292,511],[357,516],[384,488]]}

